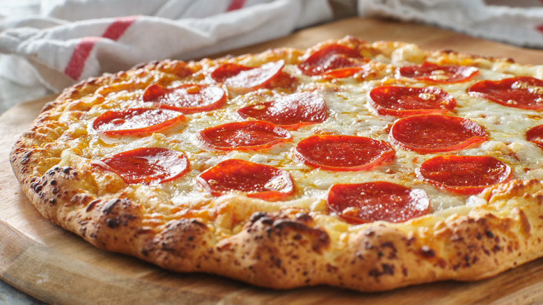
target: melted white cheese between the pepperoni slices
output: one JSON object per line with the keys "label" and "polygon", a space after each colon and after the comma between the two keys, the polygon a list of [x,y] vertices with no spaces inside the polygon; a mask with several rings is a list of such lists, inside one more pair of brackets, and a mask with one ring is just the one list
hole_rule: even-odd
{"label": "melted white cheese between the pepperoni slices", "polygon": [[[376,59],[381,63],[404,65],[406,63],[418,64],[423,61],[424,56],[420,49],[407,45],[394,52],[391,58],[381,54]],[[482,143],[478,147],[460,150],[453,152],[453,154],[490,155],[511,166],[514,178],[543,179],[542,150],[535,144],[526,141],[524,136],[528,128],[543,124],[542,116],[537,111],[504,107],[484,99],[471,97],[466,93],[466,88],[480,79],[502,79],[514,76],[513,72],[524,75],[534,74],[533,70],[529,69],[532,68],[522,70],[521,66],[496,63],[488,68],[480,69],[480,75],[470,81],[459,84],[434,85],[439,86],[455,97],[457,107],[452,115],[469,118],[479,123],[489,134],[489,141]],[[190,160],[190,170],[179,180],[161,185],[134,186],[135,191],[141,193],[140,195],[143,197],[160,194],[160,196],[166,198],[155,205],[194,208],[196,202],[202,201],[202,198],[210,199],[209,194],[203,194],[198,189],[195,182],[196,177],[205,169],[230,158],[276,166],[292,175],[296,185],[294,196],[288,201],[278,203],[255,200],[262,210],[278,210],[284,206],[292,206],[326,212],[324,201],[326,192],[331,185],[378,180],[423,189],[430,196],[430,204],[434,212],[459,205],[477,205],[480,203],[476,196],[451,194],[416,178],[415,169],[425,160],[440,154],[420,155],[393,146],[396,152],[393,162],[383,164],[372,171],[325,171],[314,169],[299,162],[294,157],[292,150],[297,142],[312,134],[356,135],[388,141],[386,130],[397,118],[393,116],[377,116],[368,103],[368,92],[382,84],[407,86],[420,86],[420,84],[409,79],[395,79],[392,75],[393,69],[388,69],[388,75],[383,79],[358,81],[348,78],[332,82],[318,79],[318,77],[301,75],[294,65],[285,65],[283,70],[299,79],[298,91],[311,90],[320,95],[326,102],[329,114],[329,117],[323,123],[306,125],[298,130],[290,131],[293,136],[290,143],[274,146],[265,151],[232,150],[224,152],[207,150],[198,139],[199,132],[206,127],[242,120],[237,115],[236,110],[248,104],[254,104],[255,98],[258,98],[258,102],[267,102],[288,94],[283,91],[270,91],[267,89],[260,89],[246,95],[233,95],[230,93],[230,97],[223,108],[187,115],[187,126],[178,132],[152,134],[141,139],[134,137],[105,139],[98,136],[91,127],[94,118],[105,109],[141,107],[139,96],[143,93],[144,87],[142,86],[142,88],[135,91],[111,93],[104,97],[104,103],[97,103],[92,107],[84,118],[79,121],[79,125],[72,126],[73,131],[77,131],[81,135],[85,134],[84,139],[88,141],[88,145],[81,148],[80,143],[74,141],[71,146],[81,148],[82,152],[78,154],[92,160],[111,157],[111,155],[122,151],[143,146],[171,148],[187,154]],[[179,82],[174,82],[169,86],[178,85],[180,85]],[[68,153],[63,155],[63,162],[69,162],[71,153],[75,153],[74,150],[69,150]],[[225,196],[235,196],[235,194]],[[221,202],[228,201],[219,199],[214,204],[219,205]],[[149,208],[152,208],[152,206],[152,204],[149,204]]]}

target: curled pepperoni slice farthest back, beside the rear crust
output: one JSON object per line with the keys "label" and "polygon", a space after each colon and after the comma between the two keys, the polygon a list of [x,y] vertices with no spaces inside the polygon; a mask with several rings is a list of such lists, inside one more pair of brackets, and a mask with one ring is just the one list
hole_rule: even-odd
{"label": "curled pepperoni slice farthest back, beside the rear crust", "polygon": [[[338,77],[350,77],[361,70],[363,56],[345,45],[329,45],[311,54],[299,68],[304,75],[316,76],[338,70]],[[348,70],[344,70],[349,68]]]}

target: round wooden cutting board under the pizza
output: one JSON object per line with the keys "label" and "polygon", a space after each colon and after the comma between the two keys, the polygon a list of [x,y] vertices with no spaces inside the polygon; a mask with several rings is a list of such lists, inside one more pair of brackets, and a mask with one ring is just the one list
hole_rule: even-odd
{"label": "round wooden cutting board under the pizza", "polygon": [[[425,49],[515,58],[543,64],[543,51],[418,24],[352,18],[231,52],[309,47],[352,35],[402,40]],[[543,39],[543,37],[542,37]],[[329,287],[269,290],[208,274],[174,274],[129,256],[95,249],[45,219],[22,193],[8,162],[13,143],[54,97],[20,104],[0,116],[0,278],[54,304],[513,304],[543,303],[543,260],[473,283],[441,282],[389,292]]]}

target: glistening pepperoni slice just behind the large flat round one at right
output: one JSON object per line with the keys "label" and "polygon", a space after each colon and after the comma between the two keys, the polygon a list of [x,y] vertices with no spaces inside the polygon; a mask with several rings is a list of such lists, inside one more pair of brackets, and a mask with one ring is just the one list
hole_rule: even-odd
{"label": "glistening pepperoni slice just behind the large flat round one at right", "polygon": [[443,114],[456,106],[454,97],[436,87],[380,86],[372,89],[369,97],[377,114],[384,116]]}

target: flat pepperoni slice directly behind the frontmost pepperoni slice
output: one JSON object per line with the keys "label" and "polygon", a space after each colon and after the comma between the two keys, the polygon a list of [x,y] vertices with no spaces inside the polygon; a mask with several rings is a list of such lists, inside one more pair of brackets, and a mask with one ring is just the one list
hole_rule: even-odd
{"label": "flat pepperoni slice directly behind the frontmost pepperoni slice", "polygon": [[310,136],[301,140],[294,155],[305,164],[329,171],[369,171],[394,157],[386,142],[363,136]]}

